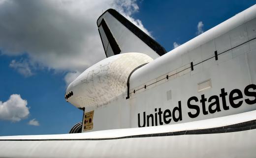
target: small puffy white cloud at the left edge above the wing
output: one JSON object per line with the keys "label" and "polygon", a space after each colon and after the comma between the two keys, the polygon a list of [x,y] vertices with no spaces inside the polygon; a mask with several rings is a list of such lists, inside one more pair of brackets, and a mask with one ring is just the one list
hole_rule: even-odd
{"label": "small puffy white cloud at the left edge above the wing", "polygon": [[18,122],[30,114],[28,102],[19,94],[12,94],[8,101],[0,101],[0,120]]}

